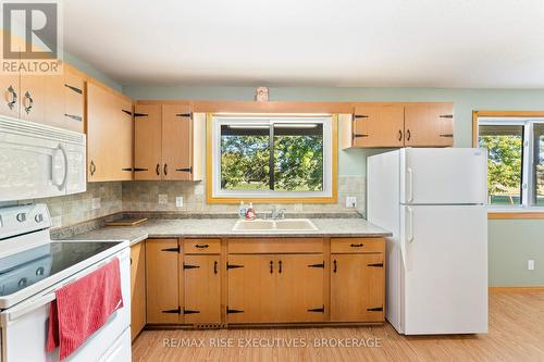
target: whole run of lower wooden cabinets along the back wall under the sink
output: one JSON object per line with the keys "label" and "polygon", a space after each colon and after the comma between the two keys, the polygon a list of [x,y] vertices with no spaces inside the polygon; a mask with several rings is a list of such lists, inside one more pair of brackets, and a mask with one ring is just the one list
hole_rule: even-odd
{"label": "whole run of lower wooden cabinets along the back wall under the sink", "polygon": [[147,323],[383,322],[384,239],[333,238],[330,248],[327,242],[148,239]]}

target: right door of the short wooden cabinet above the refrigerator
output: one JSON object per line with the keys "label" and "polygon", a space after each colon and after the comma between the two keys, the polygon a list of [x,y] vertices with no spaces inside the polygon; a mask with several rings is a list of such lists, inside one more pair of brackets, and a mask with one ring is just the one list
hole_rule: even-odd
{"label": "right door of the short wooden cabinet above the refrigerator", "polygon": [[454,110],[450,103],[421,103],[405,108],[405,145],[447,147],[454,145]]}

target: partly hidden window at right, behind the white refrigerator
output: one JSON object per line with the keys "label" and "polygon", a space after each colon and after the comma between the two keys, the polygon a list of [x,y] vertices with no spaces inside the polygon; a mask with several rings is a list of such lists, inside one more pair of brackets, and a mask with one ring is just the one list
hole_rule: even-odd
{"label": "partly hidden window at right, behind the white refrigerator", "polygon": [[478,143],[489,152],[492,208],[544,207],[544,120],[479,117]]}

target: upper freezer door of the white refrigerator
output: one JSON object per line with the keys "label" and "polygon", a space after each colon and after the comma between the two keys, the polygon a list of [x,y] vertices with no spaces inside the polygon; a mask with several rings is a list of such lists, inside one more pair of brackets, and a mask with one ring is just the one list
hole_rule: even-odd
{"label": "upper freezer door of the white refrigerator", "polygon": [[487,153],[474,148],[400,150],[400,203],[484,204]]}

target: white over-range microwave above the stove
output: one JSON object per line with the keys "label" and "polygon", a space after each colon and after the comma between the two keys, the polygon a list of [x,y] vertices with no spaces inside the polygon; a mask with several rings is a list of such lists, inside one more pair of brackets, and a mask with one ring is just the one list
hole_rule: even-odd
{"label": "white over-range microwave above the stove", "polygon": [[84,134],[0,116],[0,201],[85,192]]}

